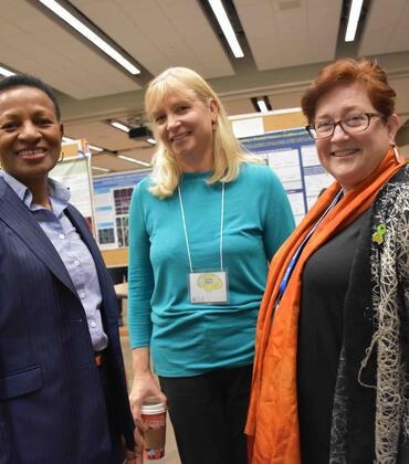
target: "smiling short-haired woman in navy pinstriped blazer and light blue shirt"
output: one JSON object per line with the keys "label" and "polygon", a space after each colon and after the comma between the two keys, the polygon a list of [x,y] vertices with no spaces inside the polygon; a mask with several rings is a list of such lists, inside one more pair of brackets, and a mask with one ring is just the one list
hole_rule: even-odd
{"label": "smiling short-haired woman in navy pinstriped blazer and light blue shirt", "polygon": [[50,87],[0,82],[0,463],[141,463],[113,285],[48,177],[62,135]]}

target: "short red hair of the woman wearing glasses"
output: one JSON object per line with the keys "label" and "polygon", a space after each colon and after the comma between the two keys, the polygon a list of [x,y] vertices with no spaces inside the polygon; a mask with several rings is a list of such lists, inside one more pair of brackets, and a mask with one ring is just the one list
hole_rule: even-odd
{"label": "short red hair of the woman wearing glasses", "polygon": [[359,84],[366,88],[374,108],[385,120],[395,113],[396,92],[388,84],[386,72],[378,63],[353,59],[340,59],[323,67],[304,93],[301,107],[308,124],[315,118],[318,99],[336,87]]}

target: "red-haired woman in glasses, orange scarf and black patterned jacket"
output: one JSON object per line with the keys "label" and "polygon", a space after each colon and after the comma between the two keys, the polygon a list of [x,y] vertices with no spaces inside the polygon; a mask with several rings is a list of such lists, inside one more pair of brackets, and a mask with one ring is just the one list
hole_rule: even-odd
{"label": "red-haired woman in glasses, orange scarf and black patterned jacket", "polygon": [[376,63],[344,59],[302,99],[336,182],[270,267],[253,464],[409,462],[409,169],[395,96]]}

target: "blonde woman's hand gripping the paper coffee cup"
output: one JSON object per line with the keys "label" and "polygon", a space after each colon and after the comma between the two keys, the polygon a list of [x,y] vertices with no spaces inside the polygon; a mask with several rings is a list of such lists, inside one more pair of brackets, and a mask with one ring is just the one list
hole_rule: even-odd
{"label": "blonde woman's hand gripping the paper coffee cup", "polygon": [[140,430],[146,430],[140,415],[141,404],[147,398],[153,397],[165,404],[165,408],[167,407],[167,398],[160,391],[157,380],[151,371],[149,370],[144,373],[139,372],[135,375],[134,384],[129,394],[129,403],[135,424]]}

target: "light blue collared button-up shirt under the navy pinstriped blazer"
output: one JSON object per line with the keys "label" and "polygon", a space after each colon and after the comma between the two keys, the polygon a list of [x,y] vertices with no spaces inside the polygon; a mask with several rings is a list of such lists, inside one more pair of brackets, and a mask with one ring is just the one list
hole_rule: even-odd
{"label": "light blue collared button-up shirt under the navy pinstriped blazer", "polygon": [[70,201],[70,191],[60,182],[49,179],[49,196],[52,211],[33,202],[31,191],[7,172],[4,181],[31,211],[45,235],[60,254],[84,307],[92,344],[95,351],[106,348],[108,338],[101,318],[102,294],[94,260],[81,240],[64,210]]}

